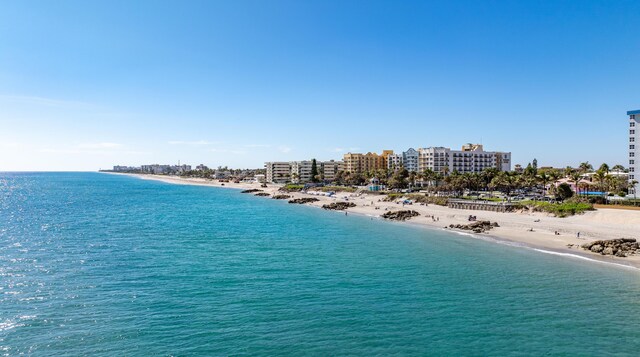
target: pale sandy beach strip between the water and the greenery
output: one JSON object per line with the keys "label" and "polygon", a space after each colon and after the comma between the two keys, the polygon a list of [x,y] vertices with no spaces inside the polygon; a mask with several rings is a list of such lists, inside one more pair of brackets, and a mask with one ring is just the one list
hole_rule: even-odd
{"label": "pale sandy beach strip between the water and the greenery", "polygon": [[[112,173],[113,174],[113,173]],[[140,179],[161,181],[170,184],[209,186],[228,189],[261,189],[264,192],[274,194],[282,185],[268,184],[267,188],[260,187],[258,183],[233,183],[224,184],[200,179],[182,178],[162,175],[121,174]],[[323,204],[344,201],[356,203],[356,207],[349,208],[345,212],[382,219],[380,217],[386,211],[403,209],[403,206],[394,202],[378,201],[382,196],[363,194],[356,196],[352,193],[339,192],[335,197],[312,195],[302,192],[286,193],[291,198],[315,197],[319,201],[307,205],[321,208]],[[259,198],[259,197],[256,197]],[[267,197],[267,199],[270,199]],[[377,207],[377,208],[376,208]],[[586,251],[575,245],[600,240],[615,238],[638,238],[640,232],[640,211],[620,211],[615,209],[599,208],[593,212],[567,218],[552,217],[545,213],[500,213],[489,211],[472,211],[452,209],[437,205],[413,204],[404,209],[415,210],[420,216],[408,221],[397,222],[411,224],[430,229],[438,229],[469,236],[472,239],[488,240],[497,244],[507,244],[526,249],[536,250],[540,253],[552,254],[563,258],[590,260],[596,263],[611,264],[626,269],[640,270],[640,256],[633,255],[626,258],[615,256],[603,256]],[[477,216],[477,219],[498,222],[500,227],[494,228],[489,233],[471,233],[447,228],[450,224],[468,224],[469,215]],[[434,221],[431,217],[436,217]],[[533,229],[533,232],[529,231]],[[560,235],[556,235],[558,231]],[[580,232],[580,238],[577,237]],[[573,247],[567,245],[573,244]]]}

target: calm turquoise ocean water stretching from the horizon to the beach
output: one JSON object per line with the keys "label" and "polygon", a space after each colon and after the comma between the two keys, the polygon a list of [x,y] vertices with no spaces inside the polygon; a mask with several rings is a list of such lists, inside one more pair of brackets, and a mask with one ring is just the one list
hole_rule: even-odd
{"label": "calm turquoise ocean water stretching from the horizon to the beach", "polygon": [[236,190],[0,173],[0,354],[639,351],[638,272]]}

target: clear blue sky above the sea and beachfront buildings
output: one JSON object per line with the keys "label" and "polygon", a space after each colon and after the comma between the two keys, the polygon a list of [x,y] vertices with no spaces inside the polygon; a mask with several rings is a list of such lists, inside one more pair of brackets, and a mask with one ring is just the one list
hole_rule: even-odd
{"label": "clear blue sky above the sea and beachfront buildings", "polygon": [[626,164],[639,19],[640,1],[3,0],[0,171],[467,142]]}

